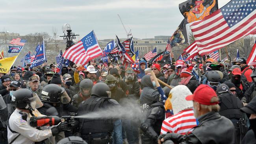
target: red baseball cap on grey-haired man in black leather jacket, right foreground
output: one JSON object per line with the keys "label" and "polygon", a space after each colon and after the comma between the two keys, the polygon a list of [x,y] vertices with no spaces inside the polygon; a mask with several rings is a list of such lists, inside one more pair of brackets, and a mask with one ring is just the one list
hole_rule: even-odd
{"label": "red baseball cap on grey-haired man in black leather jacket, right foreground", "polygon": [[194,94],[189,95],[186,97],[186,100],[193,100],[195,102],[198,102],[202,105],[216,105],[219,102],[213,102],[211,103],[211,98],[217,97],[217,94],[215,91],[209,87],[208,85],[199,85],[197,89],[195,90]]}

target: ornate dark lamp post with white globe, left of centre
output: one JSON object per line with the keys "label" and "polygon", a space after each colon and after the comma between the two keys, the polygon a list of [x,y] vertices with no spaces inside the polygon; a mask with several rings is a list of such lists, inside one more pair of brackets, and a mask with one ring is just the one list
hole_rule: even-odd
{"label": "ornate dark lamp post with white globe, left of centre", "polygon": [[[64,35],[59,36],[59,37],[63,37],[63,40],[67,41],[67,45],[66,45],[66,49],[69,49],[72,45],[74,45],[73,39],[76,39],[75,33],[72,33],[72,30],[70,29],[70,25],[69,24],[64,24],[62,26],[62,31],[64,33]],[[67,32],[67,35],[65,34],[65,32]],[[72,67],[74,65],[74,63],[72,61],[69,62],[69,65]]]}

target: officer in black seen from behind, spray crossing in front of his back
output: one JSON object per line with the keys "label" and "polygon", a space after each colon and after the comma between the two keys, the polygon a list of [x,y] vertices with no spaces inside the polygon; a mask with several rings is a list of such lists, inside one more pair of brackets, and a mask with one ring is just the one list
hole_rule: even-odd
{"label": "officer in black seen from behind, spray crossing in front of his back", "polygon": [[[110,98],[110,90],[105,83],[96,83],[91,90],[91,97],[83,101],[78,107],[78,115],[88,114],[94,111],[104,111],[108,107],[117,106],[119,103]],[[111,118],[81,118],[80,134],[83,140],[89,144],[111,143],[113,122]]]}

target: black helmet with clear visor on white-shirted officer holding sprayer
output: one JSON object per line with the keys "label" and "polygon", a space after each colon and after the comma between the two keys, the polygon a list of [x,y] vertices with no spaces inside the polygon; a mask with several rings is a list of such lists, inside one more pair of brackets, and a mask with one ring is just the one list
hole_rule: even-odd
{"label": "black helmet with clear visor on white-shirted officer holding sprayer", "polygon": [[37,94],[28,89],[19,89],[13,92],[11,103],[19,109],[34,110],[43,106]]}

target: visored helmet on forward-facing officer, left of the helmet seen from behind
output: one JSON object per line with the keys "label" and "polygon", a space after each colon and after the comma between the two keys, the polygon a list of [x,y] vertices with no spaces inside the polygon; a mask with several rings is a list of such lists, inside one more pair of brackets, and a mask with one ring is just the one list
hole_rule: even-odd
{"label": "visored helmet on forward-facing officer, left of the helmet seen from behind", "polygon": [[82,96],[89,97],[91,96],[91,89],[93,88],[93,81],[91,79],[83,79],[80,82],[80,92]]}

